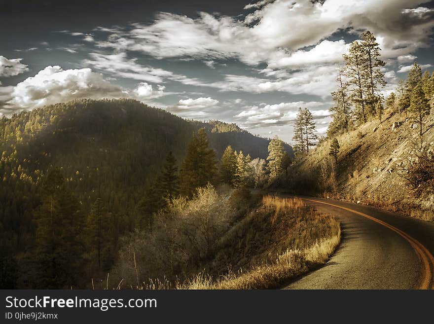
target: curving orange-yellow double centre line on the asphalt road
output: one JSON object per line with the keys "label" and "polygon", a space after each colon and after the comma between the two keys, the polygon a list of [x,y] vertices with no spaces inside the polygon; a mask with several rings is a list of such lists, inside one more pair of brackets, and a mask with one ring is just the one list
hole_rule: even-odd
{"label": "curving orange-yellow double centre line on the asphalt road", "polygon": [[395,226],[392,226],[392,225],[390,225],[390,224],[388,224],[388,223],[386,223],[380,219],[369,216],[367,214],[363,214],[363,213],[355,211],[353,209],[342,207],[342,206],[335,205],[335,204],[326,203],[326,202],[323,202],[320,200],[306,199],[306,198],[302,198],[302,199],[312,201],[315,203],[320,203],[320,204],[325,204],[325,205],[337,207],[337,208],[344,209],[346,211],[361,215],[361,216],[369,218],[369,219],[371,219],[371,220],[373,220],[373,221],[375,221],[375,222],[377,222],[377,223],[379,223],[379,224],[381,224],[387,228],[390,228],[394,232],[398,233],[401,237],[403,237],[411,245],[411,247],[416,251],[416,253],[418,254],[418,256],[420,257],[420,259],[422,261],[422,279],[421,279],[421,284],[419,286],[419,289],[430,289],[430,288],[434,289],[434,283],[433,283],[433,286],[430,287],[430,284],[432,281],[432,270],[431,269],[434,270],[434,256],[418,240],[411,237],[407,233],[401,231],[400,229],[398,229]]}

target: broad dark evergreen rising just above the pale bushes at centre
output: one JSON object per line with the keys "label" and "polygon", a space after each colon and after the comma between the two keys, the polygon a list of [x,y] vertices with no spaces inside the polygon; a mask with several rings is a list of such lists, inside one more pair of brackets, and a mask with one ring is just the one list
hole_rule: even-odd
{"label": "broad dark evergreen rising just above the pale bushes at centre", "polygon": [[216,176],[216,154],[209,147],[208,136],[201,128],[193,134],[188,145],[187,155],[182,163],[180,183],[181,193],[191,197],[196,188],[214,182]]}

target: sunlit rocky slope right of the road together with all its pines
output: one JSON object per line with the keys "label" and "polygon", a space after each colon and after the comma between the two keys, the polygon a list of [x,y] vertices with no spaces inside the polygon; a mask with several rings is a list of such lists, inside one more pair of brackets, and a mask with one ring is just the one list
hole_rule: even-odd
{"label": "sunlit rocky slope right of the road together with all its pines", "polygon": [[[384,98],[381,49],[370,32],[343,54],[345,66],[331,93],[327,137],[309,153],[306,111],[297,115],[297,154],[289,177],[275,183],[291,192],[374,204],[434,219],[434,73],[415,62]],[[304,114],[303,114],[304,113]]]}

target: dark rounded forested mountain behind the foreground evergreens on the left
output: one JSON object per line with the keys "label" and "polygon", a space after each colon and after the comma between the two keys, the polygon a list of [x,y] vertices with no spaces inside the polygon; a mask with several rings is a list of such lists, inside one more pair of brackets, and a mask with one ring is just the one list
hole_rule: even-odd
{"label": "dark rounded forested mountain behind the foreground evergreens on the left", "polygon": [[[44,215],[54,208],[47,197],[64,202],[65,208],[79,209],[81,216],[96,215],[98,219],[101,209],[106,210],[109,218],[105,221],[114,224],[109,236],[115,249],[118,238],[135,228],[138,204],[162,171],[168,153],[173,153],[181,168],[191,136],[200,128],[205,129],[217,160],[228,145],[252,158],[268,155],[270,140],[235,124],[185,120],[134,100],[77,100],[3,117],[0,263],[7,275],[1,276],[2,280],[15,282],[17,278],[12,277],[17,271],[13,269],[19,267],[17,263],[29,261],[36,228],[43,231],[45,226],[37,215],[43,214],[44,208]],[[292,152],[289,146],[285,149]],[[47,179],[52,170],[57,171]],[[67,199],[72,195],[76,201]],[[64,207],[59,207],[59,213],[72,215],[62,210]],[[59,283],[40,286],[59,287]],[[3,282],[1,286],[11,285]]]}

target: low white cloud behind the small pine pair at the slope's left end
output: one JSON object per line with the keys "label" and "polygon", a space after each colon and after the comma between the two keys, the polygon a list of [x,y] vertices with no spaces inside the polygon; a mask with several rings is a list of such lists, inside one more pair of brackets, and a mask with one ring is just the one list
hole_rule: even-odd
{"label": "low white cloud behind the small pine pair at the slope's left end", "polygon": [[241,122],[242,126],[249,128],[261,127],[264,125],[288,125],[295,120],[299,107],[312,110],[314,118],[325,118],[330,112],[324,108],[325,104],[321,102],[291,102],[280,103],[275,105],[253,106],[241,111],[234,117]]}

